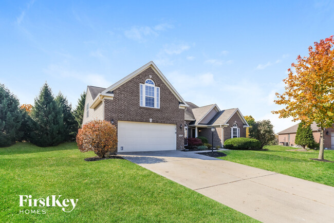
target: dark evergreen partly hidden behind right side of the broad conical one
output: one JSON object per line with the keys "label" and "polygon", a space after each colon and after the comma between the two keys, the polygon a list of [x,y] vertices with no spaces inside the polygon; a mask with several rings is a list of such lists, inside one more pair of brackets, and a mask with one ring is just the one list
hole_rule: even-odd
{"label": "dark evergreen partly hidden behind right side of the broad conical one", "polygon": [[63,121],[64,121],[64,130],[63,130],[63,138],[64,141],[74,141],[77,133],[78,133],[78,127],[77,127],[77,121],[75,117],[73,116],[71,110],[72,105],[68,104],[68,101],[66,97],[59,92],[58,96],[55,97],[55,102],[57,102],[58,106],[62,110],[63,114]]}

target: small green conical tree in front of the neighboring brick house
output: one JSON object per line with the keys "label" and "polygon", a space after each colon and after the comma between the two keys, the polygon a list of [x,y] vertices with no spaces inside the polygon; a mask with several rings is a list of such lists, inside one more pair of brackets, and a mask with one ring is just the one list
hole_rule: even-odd
{"label": "small green conical tree in front of the neighboring brick house", "polygon": [[314,141],[310,125],[305,126],[304,122],[299,123],[294,143],[301,145],[303,148],[306,146],[313,147],[316,141]]}

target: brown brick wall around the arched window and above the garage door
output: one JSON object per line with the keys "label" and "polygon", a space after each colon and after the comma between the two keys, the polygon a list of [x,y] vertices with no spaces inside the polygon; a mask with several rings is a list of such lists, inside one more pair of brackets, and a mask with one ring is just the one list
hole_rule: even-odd
{"label": "brown brick wall around the arched window and above the garage door", "polygon": [[[150,78],[150,75],[152,78]],[[160,87],[160,108],[148,108],[139,106],[139,83],[146,79],[152,79],[157,87]],[[105,100],[104,119],[117,121],[135,121],[176,124],[177,149],[184,146],[184,109],[179,108],[179,101],[162,82],[154,70],[149,67],[114,90],[114,99]],[[182,124],[182,128],[180,128]],[[182,135],[182,137],[179,137]]]}

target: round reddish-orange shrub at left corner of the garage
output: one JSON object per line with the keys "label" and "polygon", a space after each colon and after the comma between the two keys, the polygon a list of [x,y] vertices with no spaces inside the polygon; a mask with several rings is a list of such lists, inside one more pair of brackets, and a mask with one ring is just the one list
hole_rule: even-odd
{"label": "round reddish-orange shrub at left corner of the garage", "polygon": [[81,152],[93,151],[103,158],[107,152],[116,152],[117,129],[105,120],[90,121],[79,129],[77,143]]}

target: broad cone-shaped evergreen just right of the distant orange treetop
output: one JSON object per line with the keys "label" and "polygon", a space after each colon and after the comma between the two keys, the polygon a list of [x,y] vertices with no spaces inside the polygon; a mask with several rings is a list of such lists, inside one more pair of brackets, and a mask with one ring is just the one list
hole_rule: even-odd
{"label": "broad cone-shaped evergreen just right of the distant orange treetop", "polygon": [[40,95],[35,98],[31,118],[33,119],[32,143],[45,147],[58,145],[64,141],[62,110],[55,102],[47,83],[43,85]]}

